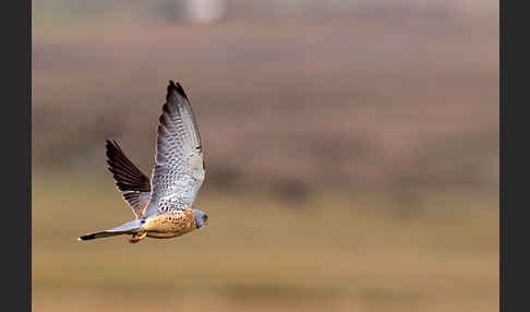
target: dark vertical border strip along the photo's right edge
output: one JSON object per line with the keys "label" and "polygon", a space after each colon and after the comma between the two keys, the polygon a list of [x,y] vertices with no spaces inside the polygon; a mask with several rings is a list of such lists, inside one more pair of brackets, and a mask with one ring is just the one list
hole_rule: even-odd
{"label": "dark vertical border strip along the photo's right edge", "polygon": [[[499,229],[501,311],[530,311],[528,228],[530,151],[528,10],[525,1],[499,1]],[[508,121],[509,120],[509,121]],[[506,148],[508,146],[508,148]],[[510,151],[510,152],[508,152]]]}

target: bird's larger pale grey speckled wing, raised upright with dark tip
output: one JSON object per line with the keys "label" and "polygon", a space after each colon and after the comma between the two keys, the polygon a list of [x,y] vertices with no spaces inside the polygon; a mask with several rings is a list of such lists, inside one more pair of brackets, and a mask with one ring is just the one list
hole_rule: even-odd
{"label": "bird's larger pale grey speckled wing, raised upright with dark tip", "polygon": [[156,165],[145,216],[190,207],[203,184],[201,137],[190,101],[179,83],[169,82],[157,134]]}

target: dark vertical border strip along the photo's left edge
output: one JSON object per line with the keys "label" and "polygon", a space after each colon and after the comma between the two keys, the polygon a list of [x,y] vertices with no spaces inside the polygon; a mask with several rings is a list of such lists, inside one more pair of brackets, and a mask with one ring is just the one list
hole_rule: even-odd
{"label": "dark vertical border strip along the photo's left edge", "polygon": [[2,311],[32,311],[32,1],[2,13]]}

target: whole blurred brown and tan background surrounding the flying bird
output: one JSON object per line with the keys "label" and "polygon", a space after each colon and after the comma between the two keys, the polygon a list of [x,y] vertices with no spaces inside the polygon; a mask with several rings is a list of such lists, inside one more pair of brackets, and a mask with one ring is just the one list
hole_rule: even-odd
{"label": "whole blurred brown and tan background surrounding the flying bird", "polygon": [[[34,0],[34,311],[497,311],[498,1]],[[209,226],[131,219],[169,80]]]}

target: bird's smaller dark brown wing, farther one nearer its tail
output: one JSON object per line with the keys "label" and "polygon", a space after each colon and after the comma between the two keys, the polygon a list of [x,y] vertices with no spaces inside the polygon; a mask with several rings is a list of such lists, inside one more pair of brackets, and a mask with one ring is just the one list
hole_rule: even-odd
{"label": "bird's smaller dark brown wing, farther one nearer its tail", "polygon": [[149,178],[129,160],[116,141],[107,140],[106,147],[108,169],[115,177],[116,185],[131,205],[136,218],[143,217],[150,195]]}

